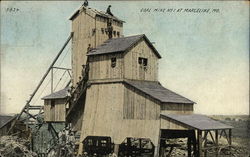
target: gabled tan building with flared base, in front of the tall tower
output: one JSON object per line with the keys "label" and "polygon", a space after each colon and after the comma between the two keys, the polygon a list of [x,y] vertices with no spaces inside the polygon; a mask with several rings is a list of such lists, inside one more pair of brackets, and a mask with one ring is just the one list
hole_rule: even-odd
{"label": "gabled tan building with flared base, in front of the tall tower", "polygon": [[109,136],[118,146],[127,137],[149,138],[158,152],[160,129],[179,128],[161,119],[161,112],[193,112],[193,101],[157,81],[161,56],[145,35],[109,39],[88,57],[91,86],[81,140]]}

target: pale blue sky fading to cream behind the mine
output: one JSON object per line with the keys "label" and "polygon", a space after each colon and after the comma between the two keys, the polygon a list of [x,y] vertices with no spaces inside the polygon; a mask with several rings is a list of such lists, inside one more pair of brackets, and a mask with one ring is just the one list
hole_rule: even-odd
{"label": "pale blue sky fading to cream behind the mine", "polygon": [[[69,17],[82,3],[1,2],[1,114],[21,111],[69,36]],[[155,43],[162,56],[159,81],[196,102],[195,113],[249,114],[249,3],[89,1],[89,7],[103,11],[109,4],[125,21],[125,36],[146,34]],[[70,52],[69,45],[60,66],[70,68]],[[62,74],[58,71],[55,80]],[[48,94],[49,80],[34,104]]]}

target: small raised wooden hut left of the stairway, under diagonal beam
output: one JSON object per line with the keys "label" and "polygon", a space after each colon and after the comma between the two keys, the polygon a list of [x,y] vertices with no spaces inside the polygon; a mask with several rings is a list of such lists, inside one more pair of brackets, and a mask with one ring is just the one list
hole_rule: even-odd
{"label": "small raised wooden hut left of the stairway, under diagonal beam", "polygon": [[45,122],[65,122],[67,97],[68,88],[64,88],[42,98]]}

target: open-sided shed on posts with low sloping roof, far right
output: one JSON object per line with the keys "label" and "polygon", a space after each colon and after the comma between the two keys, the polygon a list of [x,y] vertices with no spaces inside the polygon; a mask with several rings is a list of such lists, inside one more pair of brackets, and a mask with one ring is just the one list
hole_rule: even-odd
{"label": "open-sided shed on posts with low sloping roof, far right", "polygon": [[[221,149],[219,143],[222,135],[228,142],[227,147],[231,149],[233,127],[230,125],[200,114],[161,114],[161,124],[165,125],[165,121],[170,121],[170,125],[178,127],[176,129],[169,129],[169,127],[161,129],[161,141],[187,137],[188,156],[191,156],[192,149],[193,154],[197,156],[207,156],[208,150],[215,150],[214,155],[219,156]],[[208,145],[208,138],[212,140],[210,145]]]}

